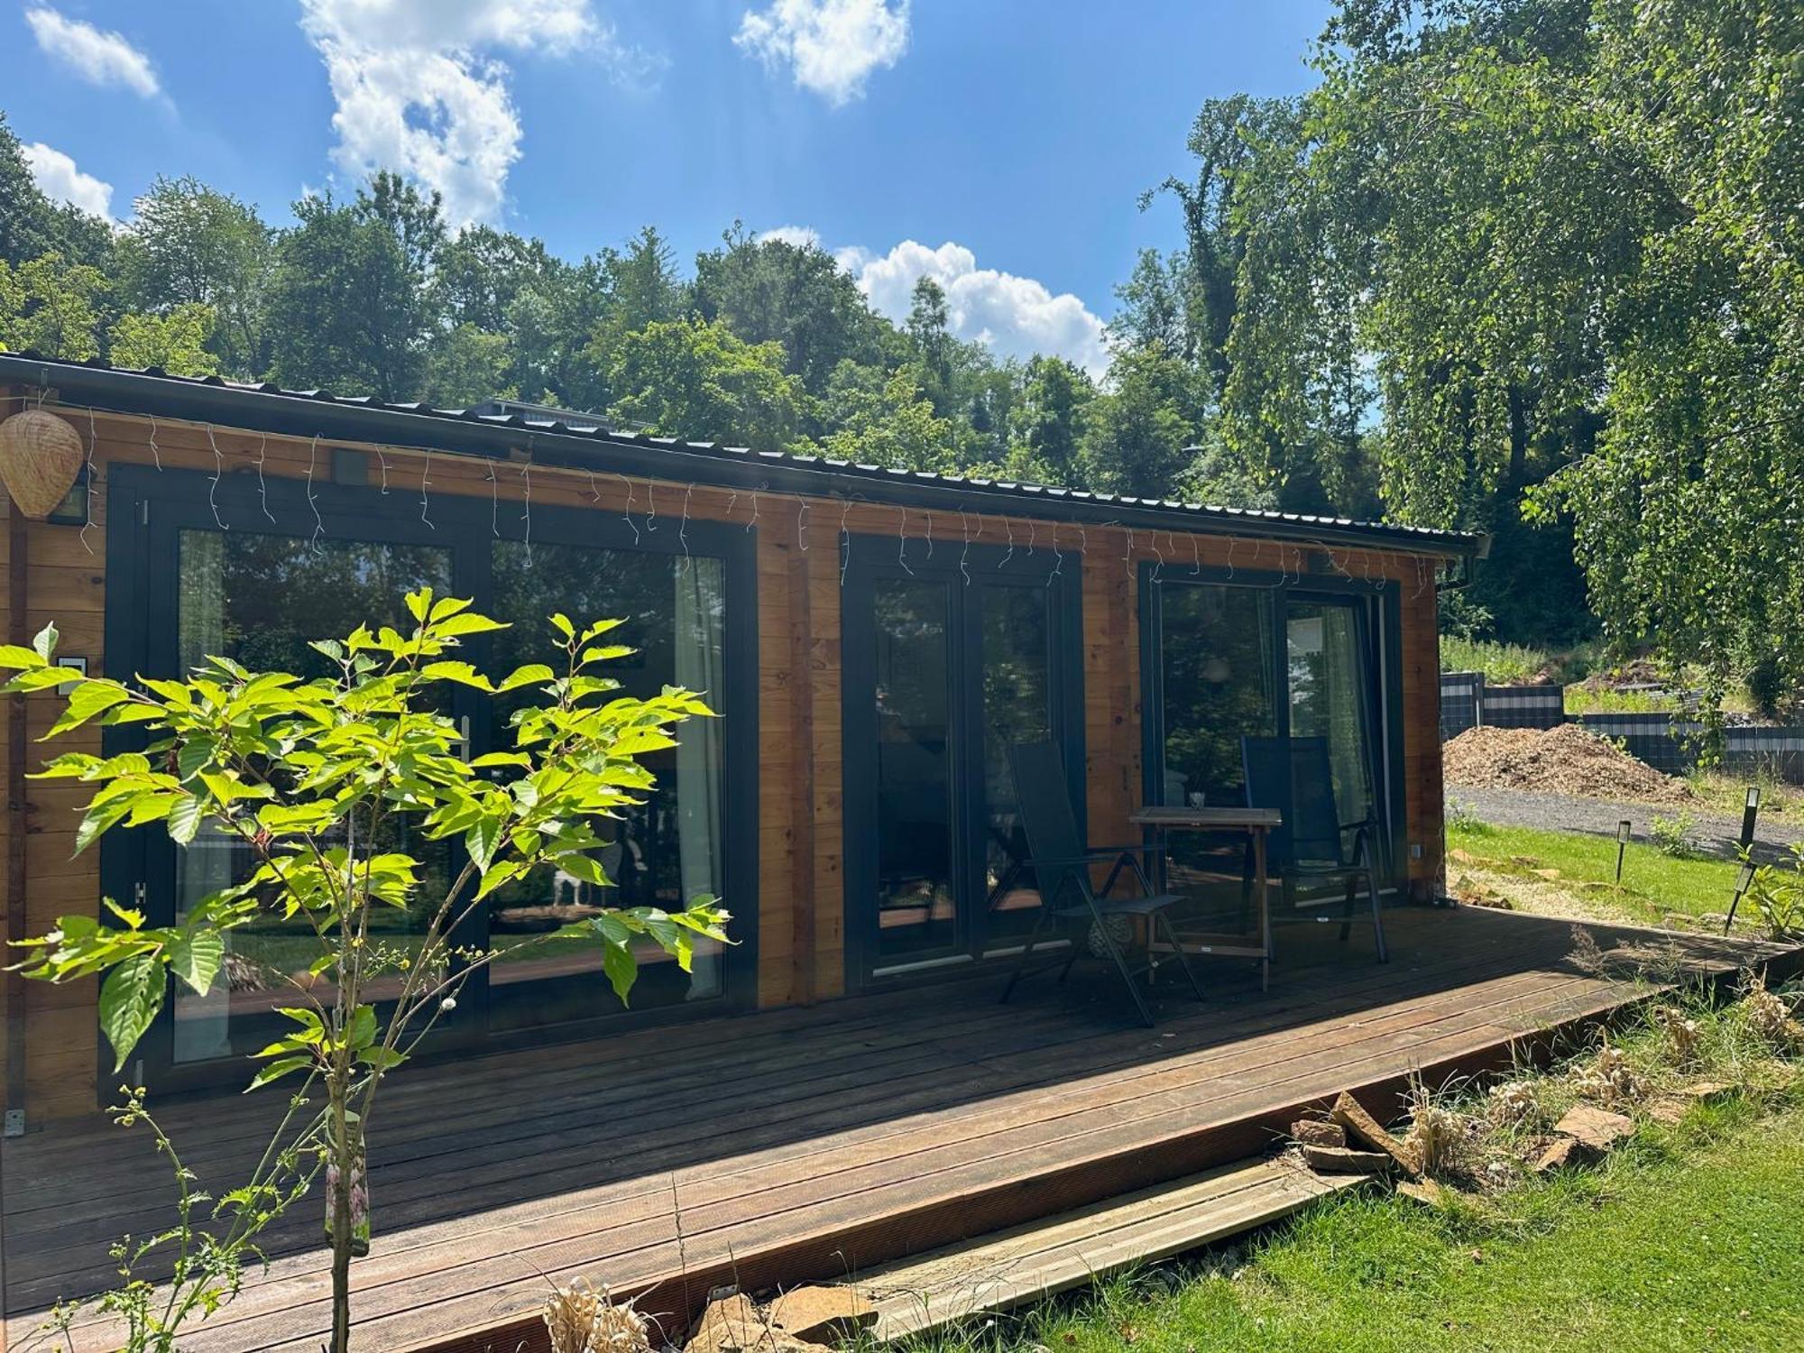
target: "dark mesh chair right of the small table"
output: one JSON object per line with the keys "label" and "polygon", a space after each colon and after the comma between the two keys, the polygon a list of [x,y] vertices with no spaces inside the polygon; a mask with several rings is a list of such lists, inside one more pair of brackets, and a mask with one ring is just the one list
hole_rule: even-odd
{"label": "dark mesh chair right of the small table", "polygon": [[[1274,920],[1295,918],[1299,911],[1333,904],[1333,897],[1299,897],[1306,884],[1344,884],[1340,938],[1353,933],[1353,904],[1358,884],[1371,898],[1371,934],[1378,962],[1391,962],[1384,943],[1384,915],[1378,907],[1378,864],[1373,855],[1375,817],[1342,823],[1335,805],[1333,767],[1326,738],[1241,738],[1241,765],[1247,770],[1247,805],[1277,808],[1284,824],[1272,832],[1272,871],[1279,877],[1284,906]],[[1353,833],[1348,850],[1348,833]],[[1330,920],[1330,916],[1306,916]]]}

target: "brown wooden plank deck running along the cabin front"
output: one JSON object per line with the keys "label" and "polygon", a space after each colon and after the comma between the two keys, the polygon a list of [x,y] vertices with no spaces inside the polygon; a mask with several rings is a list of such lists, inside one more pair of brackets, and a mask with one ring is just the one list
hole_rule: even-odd
{"label": "brown wooden plank deck running along the cabin front", "polygon": [[[1369,933],[1281,933],[1259,994],[1201,963],[1209,999],[1131,1026],[1095,965],[1068,987],[963,981],[402,1072],[373,1124],[377,1239],[357,1261],[368,1349],[541,1348],[552,1279],[642,1292],[678,1321],[722,1281],[837,1277],[1254,1155],[1340,1090],[1394,1093],[1508,1063],[1524,1041],[1649,994],[1793,954],[1474,909]],[[274,1095],[171,1104],[204,1185],[238,1183]],[[170,1220],[146,1135],[105,1122],[5,1142],[5,1310],[25,1342],[56,1297],[105,1284],[106,1245]],[[272,1266],[184,1339],[195,1353],[312,1353],[328,1324],[319,1200]],[[14,1344],[16,1346],[16,1344]],[[103,1326],[78,1348],[110,1348]]]}

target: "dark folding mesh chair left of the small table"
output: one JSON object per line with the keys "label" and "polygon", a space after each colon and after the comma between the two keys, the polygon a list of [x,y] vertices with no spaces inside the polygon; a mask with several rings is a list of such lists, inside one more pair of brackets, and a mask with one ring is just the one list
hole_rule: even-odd
{"label": "dark folding mesh chair left of the small table", "polygon": [[[1203,987],[1191,971],[1183,949],[1178,945],[1178,936],[1171,929],[1171,920],[1165,915],[1169,907],[1183,898],[1174,893],[1158,895],[1153,891],[1146,877],[1146,868],[1140,864],[1138,851],[1144,846],[1084,848],[1084,841],[1077,832],[1077,815],[1072,812],[1072,796],[1066,788],[1064,758],[1054,743],[1032,741],[1010,747],[1008,769],[1014,772],[1016,805],[1021,812],[1021,828],[1026,833],[1028,859],[1021,861],[1021,864],[1034,871],[1041,906],[1039,915],[1034,918],[1034,929],[1021,947],[1021,960],[1008,976],[1008,985],[1003,987],[1003,1001],[1014,994],[1016,983],[1028,974],[1028,962],[1034,956],[1035,943],[1041,942],[1043,931],[1048,925],[1063,924],[1070,933],[1070,951],[1041,971],[1057,967],[1059,981],[1064,981],[1072,971],[1072,963],[1077,962],[1079,953],[1088,947],[1093,936],[1104,956],[1120,972],[1122,983],[1126,983],[1140,1017],[1151,1026],[1155,1023],[1153,1010],[1140,994],[1137,978],[1155,972],[1156,962],[1149,953],[1144,967],[1128,967],[1120,942],[1109,925],[1117,916],[1146,918],[1147,938],[1158,936],[1169,945],[1173,960],[1191,983],[1191,990],[1201,999]],[[1100,889],[1090,882],[1090,870],[1095,864],[1113,866]],[[1128,875],[1133,877],[1138,888],[1133,893],[1117,897],[1115,884]]]}

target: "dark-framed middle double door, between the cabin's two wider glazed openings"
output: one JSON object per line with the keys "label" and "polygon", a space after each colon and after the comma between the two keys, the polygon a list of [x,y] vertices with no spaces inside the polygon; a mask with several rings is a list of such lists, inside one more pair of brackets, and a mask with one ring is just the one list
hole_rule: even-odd
{"label": "dark-framed middle double door, between the cabin's two wider glazed openings", "polygon": [[1034,924],[1008,747],[1077,741],[1077,570],[1025,550],[844,545],[848,983],[965,963]]}

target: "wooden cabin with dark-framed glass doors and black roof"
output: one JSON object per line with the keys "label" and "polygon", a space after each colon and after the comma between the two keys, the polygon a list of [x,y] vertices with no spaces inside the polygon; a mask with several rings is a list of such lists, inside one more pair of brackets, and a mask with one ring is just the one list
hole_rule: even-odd
{"label": "wooden cabin with dark-framed glass doors and black roof", "polygon": [[[1090,841],[1115,842],[1140,805],[1239,801],[1243,734],[1326,736],[1342,806],[1378,819],[1387,900],[1441,889],[1436,594],[1472,538],[34,357],[0,355],[0,400],[87,447],[49,520],[7,505],[7,642],[56,621],[88,671],[296,669],[305,640],[395,619],[429,583],[514,622],[478,662],[532,657],[554,610],[626,617],[630,691],[709,695],[723,718],[653,758],[608,900],[718,893],[736,943],[693,974],[648,962],[630,1010],[581,956],[498,960],[444,1046],[615,1039],[1005,963],[1037,906],[999,888],[1023,850],[1007,749],[1026,740],[1064,749]],[[207,835],[76,855],[81,787],[25,779],[58,707],[13,696],[5,725],[9,938],[103,893],[166,922],[244,866]],[[507,709],[460,693],[453,714],[480,752]],[[1196,879],[1230,873],[1196,851]],[[579,888],[518,889],[473,942],[530,938]],[[166,1001],[133,1081],[244,1084],[280,1003],[256,969],[285,945],[305,960],[280,927],[231,942],[254,962]],[[5,1014],[25,1129],[110,1102],[94,983],[11,974]]]}

